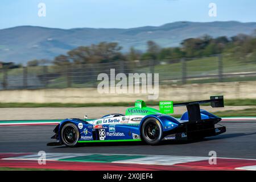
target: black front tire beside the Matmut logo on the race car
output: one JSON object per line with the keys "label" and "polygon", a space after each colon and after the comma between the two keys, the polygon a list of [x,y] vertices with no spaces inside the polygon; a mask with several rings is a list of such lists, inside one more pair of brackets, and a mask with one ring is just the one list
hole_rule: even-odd
{"label": "black front tire beside the Matmut logo on the race car", "polygon": [[73,123],[66,123],[61,129],[61,140],[68,147],[74,147],[79,140],[79,129]]}

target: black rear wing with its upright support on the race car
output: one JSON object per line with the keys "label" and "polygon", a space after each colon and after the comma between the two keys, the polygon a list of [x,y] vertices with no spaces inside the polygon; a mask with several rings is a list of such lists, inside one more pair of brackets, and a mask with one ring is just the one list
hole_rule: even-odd
{"label": "black rear wing with its upright support on the race car", "polygon": [[200,104],[209,102],[212,107],[224,107],[223,96],[210,96],[210,100],[176,103],[174,107],[186,106],[188,110],[188,121],[195,122],[201,120]]}

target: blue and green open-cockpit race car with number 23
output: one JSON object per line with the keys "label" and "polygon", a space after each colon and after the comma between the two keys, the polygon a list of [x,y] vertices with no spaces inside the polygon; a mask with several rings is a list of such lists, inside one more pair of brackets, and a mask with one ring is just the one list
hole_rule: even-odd
{"label": "blue and green open-cockpit race car with number 23", "polygon": [[[163,140],[193,140],[222,134],[226,127],[217,124],[221,118],[200,109],[200,104],[208,102],[212,107],[224,107],[223,96],[176,104],[160,101],[159,110],[137,100],[125,114],[108,114],[91,120],[86,117],[64,119],[53,130],[55,135],[52,139],[56,139],[53,143],[73,147],[79,143],[143,141],[156,145]],[[187,107],[181,118],[169,115],[177,106]]]}

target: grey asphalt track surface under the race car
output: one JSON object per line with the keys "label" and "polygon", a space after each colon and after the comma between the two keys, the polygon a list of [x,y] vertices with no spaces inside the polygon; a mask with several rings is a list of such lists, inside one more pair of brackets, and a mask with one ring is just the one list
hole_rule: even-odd
{"label": "grey asphalt track surface under the race car", "polygon": [[0,127],[0,153],[38,152],[97,153],[97,154],[144,154],[208,156],[216,151],[218,158],[256,159],[256,122],[221,122],[226,133],[195,142],[164,142],[148,146],[142,142],[90,143],[79,147],[46,146],[55,126],[3,126]]}

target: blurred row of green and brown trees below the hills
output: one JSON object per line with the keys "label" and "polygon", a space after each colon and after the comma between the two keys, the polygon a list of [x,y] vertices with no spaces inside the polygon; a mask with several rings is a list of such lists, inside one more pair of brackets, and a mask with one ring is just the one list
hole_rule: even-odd
{"label": "blurred row of green and brown trees below the hills", "polygon": [[[243,57],[247,60],[249,55],[256,57],[256,36],[239,34],[228,38],[220,36],[212,38],[209,35],[200,38],[183,40],[179,47],[162,48],[152,40],[147,42],[147,50],[142,52],[134,47],[126,53],[118,43],[101,42],[90,46],[80,46],[66,55],[56,56],[53,60],[31,60],[28,66],[52,63],[54,65],[95,64],[109,63],[112,61],[134,60],[170,60],[183,57],[209,56],[220,53],[230,53],[235,57]],[[254,60],[254,59],[250,59]],[[256,61],[256,60],[255,60]]]}

